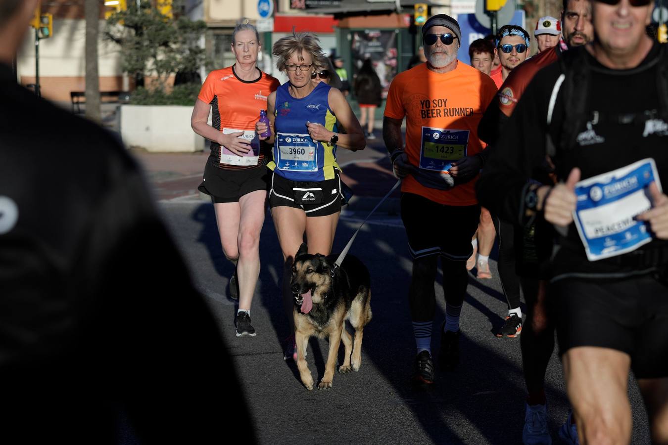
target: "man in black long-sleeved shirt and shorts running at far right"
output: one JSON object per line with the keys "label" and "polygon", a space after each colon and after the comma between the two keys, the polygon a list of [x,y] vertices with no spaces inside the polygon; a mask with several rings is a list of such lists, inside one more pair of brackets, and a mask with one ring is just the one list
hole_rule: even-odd
{"label": "man in black long-sleeved shirt and shorts running at far right", "polygon": [[[478,185],[500,217],[557,229],[548,305],[582,443],[631,442],[629,370],[668,442],[668,54],[645,33],[652,9],[592,2],[595,40],[535,75]],[[556,185],[530,181],[546,156]]]}

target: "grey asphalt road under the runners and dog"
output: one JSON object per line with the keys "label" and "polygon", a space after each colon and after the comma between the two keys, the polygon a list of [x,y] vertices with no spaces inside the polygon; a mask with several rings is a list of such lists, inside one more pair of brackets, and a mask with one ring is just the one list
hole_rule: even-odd
{"label": "grey asphalt road under the runners and dog", "polygon": [[[236,338],[236,305],[226,297],[232,266],[220,250],[212,205],[200,199],[172,199],[160,207],[228,343],[261,443],[521,443],[526,393],[520,342],[493,335],[506,314],[494,260],[492,280],[470,278],[461,318],[459,368],[438,372],[431,390],[415,390],[409,384],[415,344],[407,304],[411,262],[405,233],[396,215],[374,217],[351,249],[371,272],[373,320],[364,333],[361,369],[336,374],[330,390],[309,392],[295,364],[283,361],[283,341],[289,332],[279,294],[281,250],[269,213],[261,233],[262,270],[251,313],[258,334]],[[363,216],[344,212],[335,252],[345,246]],[[435,332],[445,317],[443,292],[439,274]],[[435,354],[439,343],[436,334]],[[324,340],[311,340],[307,362],[314,379],[323,376],[327,348]],[[632,382],[630,388],[633,443],[649,443],[637,386]],[[568,402],[556,355],[548,368],[546,393],[550,431],[554,443],[560,443],[557,431]],[[228,400],[220,403],[234,409]]]}

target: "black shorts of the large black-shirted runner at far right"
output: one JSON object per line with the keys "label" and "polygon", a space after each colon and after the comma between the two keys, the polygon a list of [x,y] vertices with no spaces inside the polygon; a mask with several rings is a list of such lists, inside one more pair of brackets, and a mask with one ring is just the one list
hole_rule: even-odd
{"label": "black shorts of the large black-shirted runner at far right", "polygon": [[652,276],[550,284],[559,352],[600,346],[631,356],[637,378],[668,377],[668,287]]}

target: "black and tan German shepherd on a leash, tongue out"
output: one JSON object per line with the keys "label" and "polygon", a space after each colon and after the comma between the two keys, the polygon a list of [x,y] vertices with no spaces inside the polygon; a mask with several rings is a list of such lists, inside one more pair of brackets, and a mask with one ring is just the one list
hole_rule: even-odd
{"label": "black and tan German shepherd on a leash, tongue out", "polygon": [[[290,284],[295,296],[297,368],[301,382],[309,391],[313,390],[313,376],[306,364],[309,338],[329,338],[325,375],[318,389],[331,388],[341,340],[345,346],[345,359],[339,372],[358,371],[362,361],[362,331],[371,320],[369,270],[351,255],[345,257],[341,268],[334,268],[336,259],[333,255],[309,255],[306,244],[302,244],[293,263]],[[354,347],[345,320],[349,320],[355,329]]]}

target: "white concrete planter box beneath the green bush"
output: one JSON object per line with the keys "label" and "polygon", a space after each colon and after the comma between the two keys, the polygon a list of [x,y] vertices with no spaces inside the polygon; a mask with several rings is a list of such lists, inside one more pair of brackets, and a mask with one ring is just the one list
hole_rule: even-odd
{"label": "white concrete planter box beneath the green bush", "polygon": [[192,107],[122,105],[121,136],[128,147],[147,151],[202,151],[204,138],[190,127]]}

